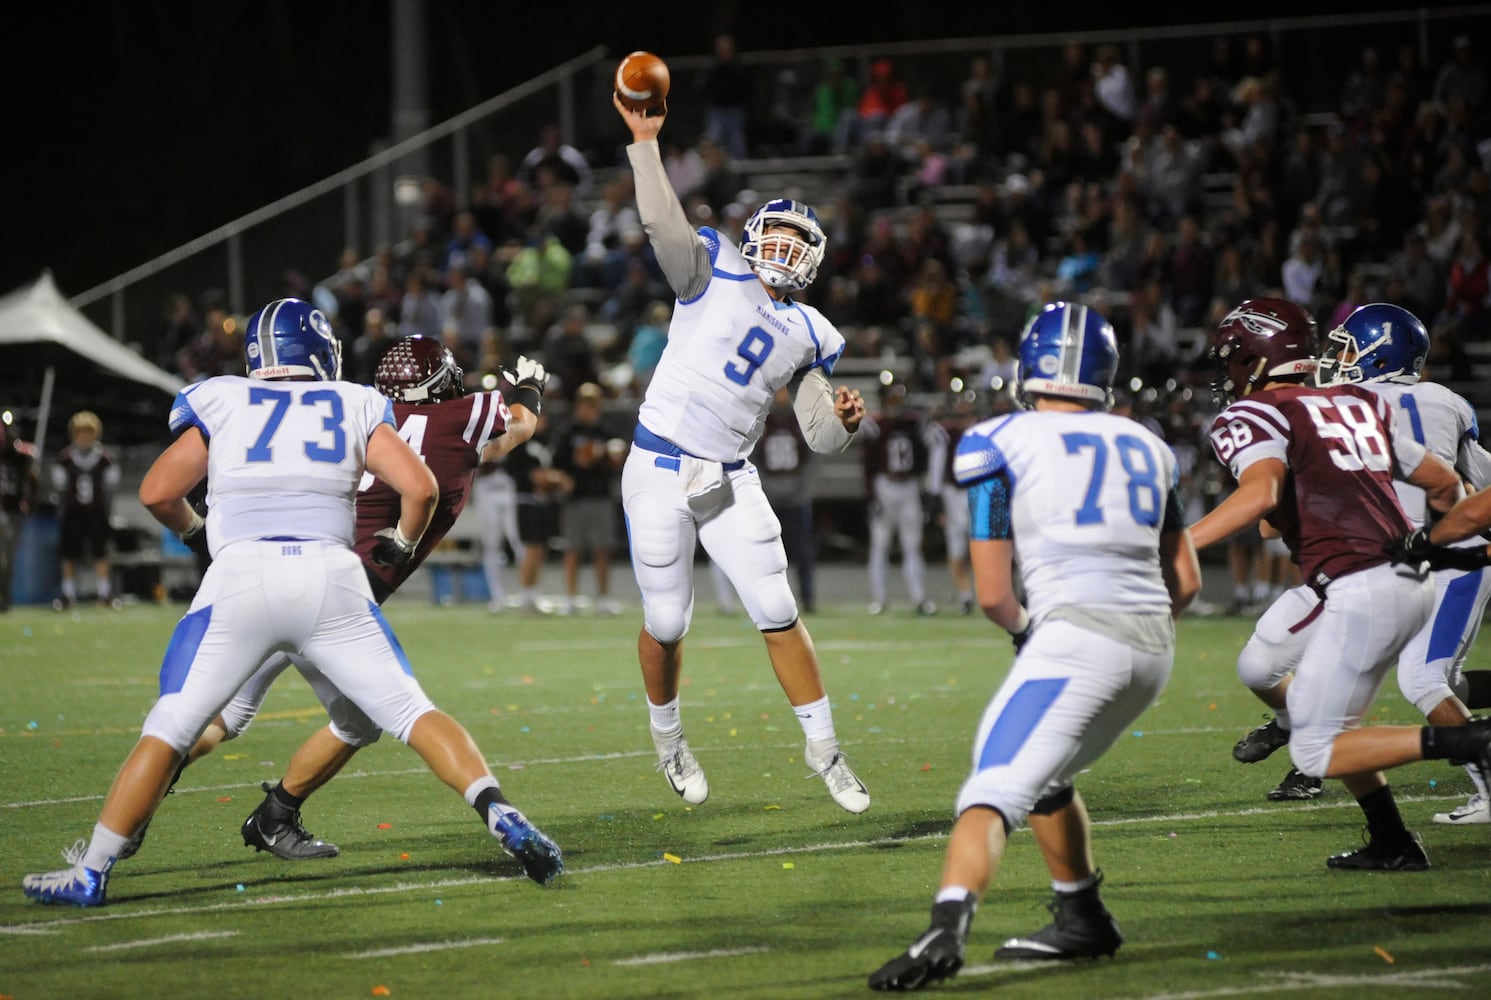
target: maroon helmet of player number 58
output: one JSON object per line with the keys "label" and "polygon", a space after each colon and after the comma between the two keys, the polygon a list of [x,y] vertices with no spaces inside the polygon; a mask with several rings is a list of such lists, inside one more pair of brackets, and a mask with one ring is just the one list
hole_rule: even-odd
{"label": "maroon helmet of player number 58", "polygon": [[1249,298],[1217,325],[1212,396],[1226,407],[1266,382],[1315,373],[1315,317],[1284,298]]}

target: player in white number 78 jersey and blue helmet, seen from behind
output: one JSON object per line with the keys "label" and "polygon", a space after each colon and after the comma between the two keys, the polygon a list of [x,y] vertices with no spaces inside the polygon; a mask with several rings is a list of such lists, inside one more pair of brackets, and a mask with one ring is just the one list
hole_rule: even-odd
{"label": "player in white number 78 jersey and blue helmet, seen from behind", "polygon": [[[1111,955],[1123,943],[1097,896],[1102,872],[1072,781],[1164,687],[1173,618],[1200,590],[1200,565],[1181,520],[1175,455],[1106,413],[1117,368],[1108,320],[1053,303],[1020,340],[1020,393],[1032,410],[977,423],[957,444],[975,590],[1014,638],[1015,663],[978,724],[932,925],[871,975],[872,990],[920,990],[963,966],[978,900],[1027,820],[1051,870],[1054,921],[994,957]],[[1015,559],[1029,608],[1014,590]]]}

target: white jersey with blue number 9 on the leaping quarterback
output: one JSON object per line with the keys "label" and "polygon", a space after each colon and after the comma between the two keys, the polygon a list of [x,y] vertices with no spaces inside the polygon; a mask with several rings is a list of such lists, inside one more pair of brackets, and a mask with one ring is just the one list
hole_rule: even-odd
{"label": "white jersey with blue number 9 on the leaping quarterback", "polygon": [[774,301],[714,230],[699,238],[714,274],[678,300],[638,420],[696,458],[735,462],[756,446],[777,389],[804,368],[832,374],[844,337],[814,307]]}

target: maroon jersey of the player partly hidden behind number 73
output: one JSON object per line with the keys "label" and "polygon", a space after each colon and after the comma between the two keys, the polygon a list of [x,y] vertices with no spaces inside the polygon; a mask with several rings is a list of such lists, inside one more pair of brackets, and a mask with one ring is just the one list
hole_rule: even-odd
{"label": "maroon jersey of the player partly hidden behind number 73", "polygon": [[[376,581],[373,590],[380,602],[409,580],[456,523],[471,492],[476,466],[482,462],[482,449],[507,429],[508,419],[501,392],[473,392],[444,402],[394,404],[398,435],[409,441],[409,447],[419,452],[419,458],[425,459],[425,465],[435,474],[440,502],[435,504],[435,516],[425,529],[425,537],[419,539],[414,557],[403,569],[376,566],[371,557],[376,541],[373,535],[398,523],[400,498],[383,480],[362,477],[355,548]],[[383,584],[382,590],[379,583]]]}

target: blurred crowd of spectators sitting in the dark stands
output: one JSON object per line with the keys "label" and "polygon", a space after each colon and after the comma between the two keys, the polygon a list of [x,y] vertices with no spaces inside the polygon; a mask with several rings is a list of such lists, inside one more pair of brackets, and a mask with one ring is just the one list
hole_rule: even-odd
{"label": "blurred crowd of spectators sitting in the dark stands", "polygon": [[[1491,344],[1485,61],[1458,36],[1421,66],[1393,31],[1394,58],[1363,49],[1330,115],[1299,110],[1261,34],[1218,36],[1185,76],[1112,45],[1066,45],[1042,80],[975,55],[950,92],[886,58],[863,79],[839,60],[814,80],[753,72],[722,36],[690,94],[702,133],[665,133],[665,164],[696,224],[726,238],[765,197],[816,204],[829,255],[807,298],[845,356],[886,359],[924,393],[1008,387],[1026,317],[1077,298],[1114,322],[1136,410],[1188,447],[1209,404],[1206,332],[1248,297],[1288,297],[1323,328],[1399,303],[1430,328],[1445,380]],[[765,154],[844,167],[819,189],[754,191]],[[350,247],[324,282],[286,276],[286,292],[327,308],[356,379],[389,338],[425,334],[471,373],[538,355],[561,401],[586,383],[637,401],[672,294],[619,165],[547,127],[525,155],[492,156],[464,200],[426,179],[404,241]],[[163,364],[197,379],[239,358],[221,301],[170,303]]]}

